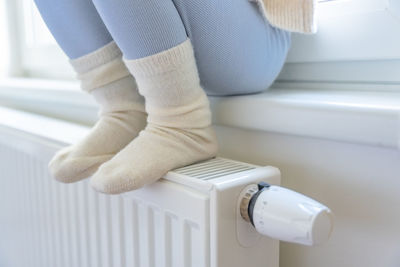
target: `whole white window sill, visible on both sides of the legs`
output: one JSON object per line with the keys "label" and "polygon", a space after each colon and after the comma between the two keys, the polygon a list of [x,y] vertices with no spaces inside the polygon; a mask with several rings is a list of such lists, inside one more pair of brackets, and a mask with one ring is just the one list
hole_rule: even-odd
{"label": "whole white window sill, visible on both sides of the legs", "polygon": [[[210,101],[216,125],[400,149],[399,92],[275,88],[254,95],[210,97]],[[74,137],[68,140],[88,129],[77,123],[92,125],[97,116],[96,104],[76,82],[2,80],[0,105],[58,118],[50,119],[55,124],[74,125]],[[0,125],[15,128],[26,113],[14,112],[19,119],[10,119],[10,112],[0,109]],[[36,123],[43,119],[31,116]]]}

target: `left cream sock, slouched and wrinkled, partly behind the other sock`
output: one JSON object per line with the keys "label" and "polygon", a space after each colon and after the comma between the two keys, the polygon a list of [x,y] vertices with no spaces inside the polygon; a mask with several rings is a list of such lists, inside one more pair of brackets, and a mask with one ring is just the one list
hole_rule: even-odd
{"label": "left cream sock, slouched and wrinkled, partly behind the other sock", "polygon": [[91,176],[138,135],[147,116],[144,99],[114,42],[70,63],[82,89],[99,103],[100,118],[85,138],[60,150],[50,161],[53,177],[65,183]]}

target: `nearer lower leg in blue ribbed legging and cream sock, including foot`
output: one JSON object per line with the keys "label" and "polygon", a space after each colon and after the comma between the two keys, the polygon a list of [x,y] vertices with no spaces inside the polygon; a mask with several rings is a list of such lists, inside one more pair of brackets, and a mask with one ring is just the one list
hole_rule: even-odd
{"label": "nearer lower leg in blue ribbed legging and cream sock, including foot", "polygon": [[[171,0],[96,0],[146,101],[148,125],[92,176],[92,186],[121,193],[173,168],[211,158],[217,144],[190,39]],[[155,43],[156,42],[156,43]]]}

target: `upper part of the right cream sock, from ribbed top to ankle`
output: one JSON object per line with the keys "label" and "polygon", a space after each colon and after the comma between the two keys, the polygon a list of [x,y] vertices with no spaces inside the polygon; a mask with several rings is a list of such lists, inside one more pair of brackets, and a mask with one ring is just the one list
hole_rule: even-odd
{"label": "upper part of the right cream sock, from ribbed top to ankle", "polygon": [[190,39],[148,57],[125,60],[125,64],[145,98],[149,123],[176,128],[211,124]]}

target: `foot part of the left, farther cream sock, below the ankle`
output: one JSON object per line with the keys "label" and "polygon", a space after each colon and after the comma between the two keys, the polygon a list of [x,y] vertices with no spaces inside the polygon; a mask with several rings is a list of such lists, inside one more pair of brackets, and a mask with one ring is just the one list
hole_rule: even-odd
{"label": "foot part of the left, farther cream sock, below the ankle", "polygon": [[146,114],[140,111],[102,114],[83,140],[60,150],[53,157],[49,163],[50,173],[64,183],[91,176],[102,163],[129,144],[145,124]]}

